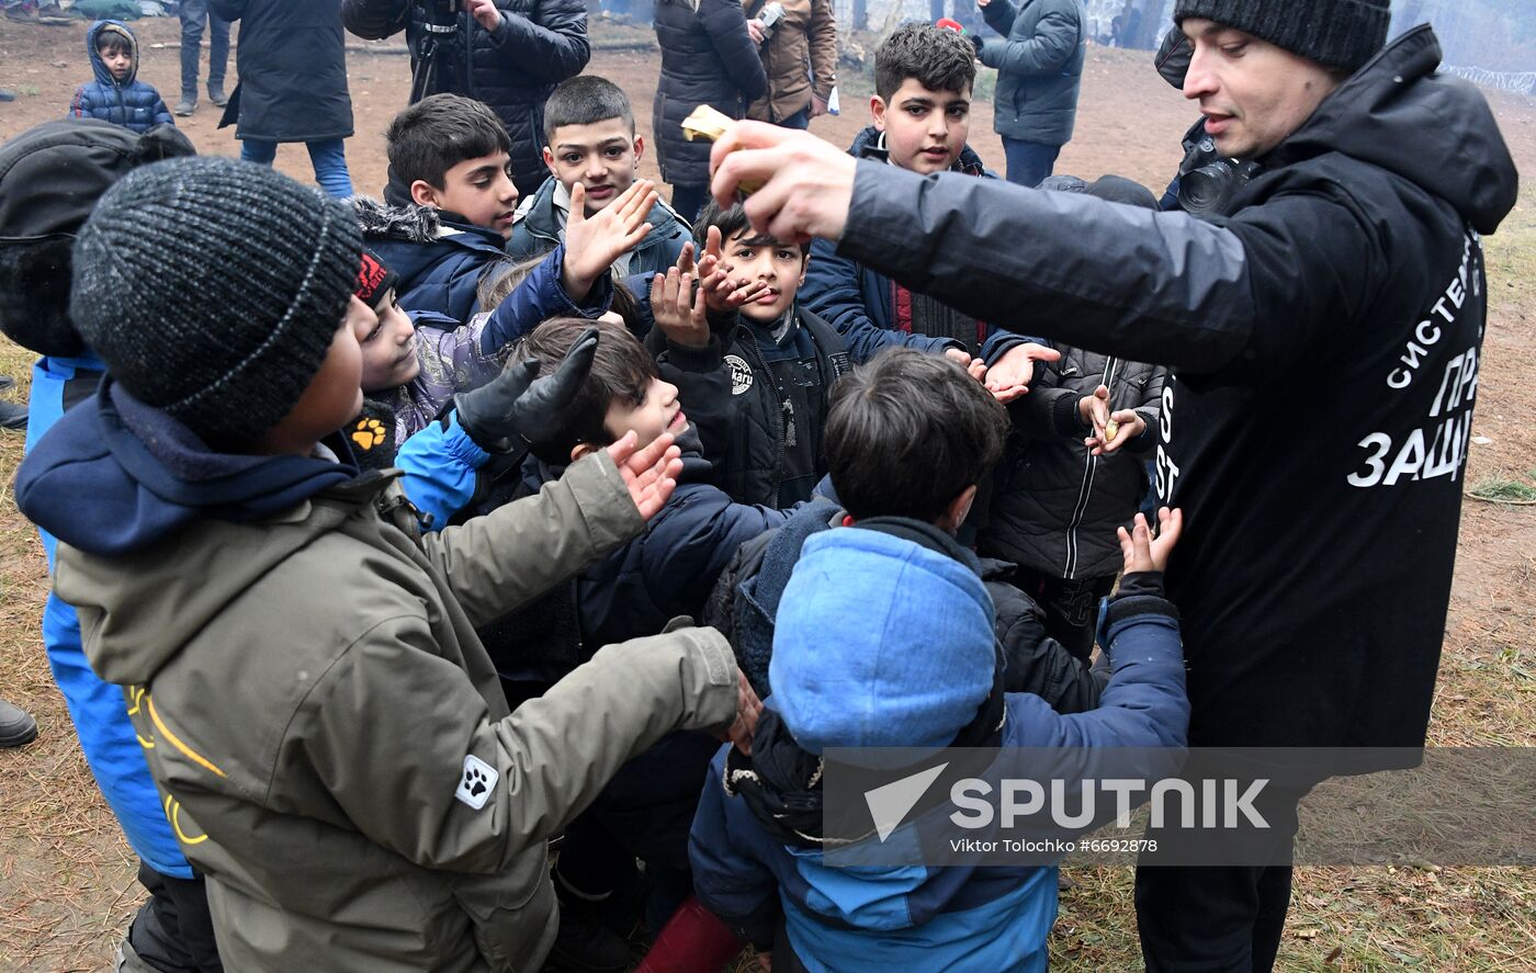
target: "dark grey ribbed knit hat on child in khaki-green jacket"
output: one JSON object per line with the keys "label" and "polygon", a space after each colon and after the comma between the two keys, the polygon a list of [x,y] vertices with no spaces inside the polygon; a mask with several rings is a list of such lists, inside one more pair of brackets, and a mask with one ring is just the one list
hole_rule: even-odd
{"label": "dark grey ribbed knit hat on child in khaki-green jacket", "polygon": [[80,229],[71,315],[135,397],[204,440],[243,442],[319,371],[361,252],[352,210],[270,169],[160,163]]}

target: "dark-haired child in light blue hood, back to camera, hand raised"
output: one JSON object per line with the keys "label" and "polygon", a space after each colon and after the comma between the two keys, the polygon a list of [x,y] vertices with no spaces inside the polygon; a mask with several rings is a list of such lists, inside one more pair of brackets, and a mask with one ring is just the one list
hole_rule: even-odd
{"label": "dark-haired child in light blue hood, back to camera, hand raised", "polygon": [[1097,709],[1061,715],[1003,689],[992,602],[949,534],[975,497],[985,470],[966,459],[980,453],[962,439],[932,456],[943,437],[923,433],[955,417],[914,397],[909,382],[882,381],[880,359],[843,382],[826,444],[845,526],[805,542],[783,591],[773,694],[751,757],[717,754],[711,764],[690,841],[694,889],[776,970],[1043,973],[1054,866],[829,867],[817,836],[819,755],[1183,747],[1184,663],[1161,580],[1181,519],[1161,511],[1157,540],[1141,517],[1134,537],[1120,531],[1126,577],[1107,617],[1109,684]]}

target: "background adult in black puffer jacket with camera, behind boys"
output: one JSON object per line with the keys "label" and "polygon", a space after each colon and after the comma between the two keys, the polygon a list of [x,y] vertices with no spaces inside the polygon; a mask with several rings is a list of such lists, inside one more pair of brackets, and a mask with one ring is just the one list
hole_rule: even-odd
{"label": "background adult in black puffer jacket with camera, behind boys", "polygon": [[518,195],[538,192],[550,175],[544,103],[591,57],[584,0],[343,0],[341,21],[369,40],[406,31],[410,103],[450,94],[488,104],[511,137]]}

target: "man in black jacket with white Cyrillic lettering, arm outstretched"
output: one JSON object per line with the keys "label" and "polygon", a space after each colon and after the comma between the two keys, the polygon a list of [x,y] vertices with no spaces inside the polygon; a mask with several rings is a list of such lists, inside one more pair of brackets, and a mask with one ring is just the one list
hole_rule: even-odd
{"label": "man in black jacket with white Cyrillic lettering, arm outstretched", "polygon": [[[1184,95],[1256,163],[1209,219],[919,176],[739,124],[714,192],[782,239],[983,319],[1172,367],[1157,486],[1189,525],[1192,746],[1424,743],[1487,319],[1518,176],[1428,26],[1387,0],[1178,0]],[[1304,394],[1296,385],[1306,382]],[[1407,528],[1407,529],[1404,529]],[[1233,560],[1238,559],[1238,560]],[[1292,823],[1293,827],[1293,815]],[[1269,970],[1289,867],[1143,869],[1147,968]]]}

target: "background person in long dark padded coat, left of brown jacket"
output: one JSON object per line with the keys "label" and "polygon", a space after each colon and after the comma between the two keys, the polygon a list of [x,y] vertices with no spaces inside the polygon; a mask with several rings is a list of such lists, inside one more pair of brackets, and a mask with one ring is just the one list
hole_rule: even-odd
{"label": "background person in long dark padded coat, left of brown jacket", "polygon": [[673,187],[673,209],[691,223],[710,184],[710,143],[684,140],[682,120],[700,104],[742,118],[768,92],[768,74],[736,0],[660,0],[656,41],[656,164]]}

